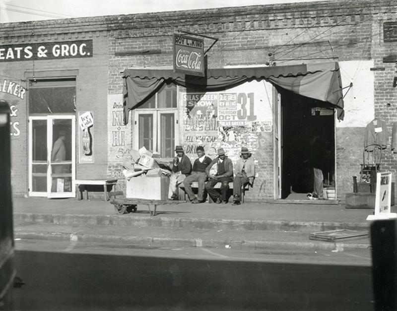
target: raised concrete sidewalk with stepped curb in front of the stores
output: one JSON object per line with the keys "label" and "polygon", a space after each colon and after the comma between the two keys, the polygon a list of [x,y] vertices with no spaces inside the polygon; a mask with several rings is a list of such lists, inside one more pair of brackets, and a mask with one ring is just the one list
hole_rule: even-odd
{"label": "raised concrete sidewalk with stepped curb in front of the stores", "polygon": [[[369,238],[309,240],[313,232],[369,230],[370,209],[335,204],[167,204],[117,215],[108,201],[14,197],[15,237],[120,242],[135,246],[367,249]],[[394,207],[392,208],[393,211]]]}

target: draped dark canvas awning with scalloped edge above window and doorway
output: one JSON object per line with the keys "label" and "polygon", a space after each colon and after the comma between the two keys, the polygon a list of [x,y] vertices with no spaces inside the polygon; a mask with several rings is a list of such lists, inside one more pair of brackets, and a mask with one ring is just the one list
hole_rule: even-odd
{"label": "draped dark canvas awning with scalloped edge above window and doorway", "polygon": [[126,69],[123,80],[124,122],[128,114],[156,93],[164,83],[175,83],[192,91],[223,91],[253,80],[266,80],[294,93],[332,104],[343,120],[343,94],[337,62],[255,68],[208,69],[206,77],[173,70]]}

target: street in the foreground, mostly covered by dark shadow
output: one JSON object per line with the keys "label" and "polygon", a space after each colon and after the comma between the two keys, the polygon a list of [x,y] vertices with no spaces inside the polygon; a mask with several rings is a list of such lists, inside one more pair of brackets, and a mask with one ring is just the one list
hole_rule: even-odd
{"label": "street in the foreground, mostly covered by dark shadow", "polygon": [[368,252],[16,244],[14,310],[373,310]]}

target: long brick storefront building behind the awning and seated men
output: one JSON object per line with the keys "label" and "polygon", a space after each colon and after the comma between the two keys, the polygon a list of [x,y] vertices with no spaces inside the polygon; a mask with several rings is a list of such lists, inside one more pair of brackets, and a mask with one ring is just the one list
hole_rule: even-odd
{"label": "long brick storefront building behind the awning and seated men", "polygon": [[[374,118],[388,131],[381,169],[397,171],[390,149],[397,121],[396,11],[390,0],[338,0],[0,24],[0,98],[11,105],[13,193],[72,196],[75,179],[122,178],[120,164],[131,149],[146,144],[170,157],[181,144],[193,159],[202,144],[210,157],[223,147],[234,162],[242,145],[252,150],[257,177],[247,200],[288,198],[291,188],[310,191],[308,150],[321,135],[329,146],[326,180],[344,199]],[[125,125],[123,76],[172,75],[172,35],[184,32],[219,39],[206,54],[209,70],[240,68],[251,78],[206,94],[166,84],[133,109]],[[212,43],[204,38],[205,49]],[[258,73],[269,65],[299,77],[307,72],[298,65],[318,63],[340,67],[343,120],[330,103],[285,91]],[[226,122],[232,119],[222,107],[230,101],[221,99],[237,104],[242,122]],[[84,122],[92,142],[85,148]],[[65,158],[57,164],[51,153],[62,133]]]}

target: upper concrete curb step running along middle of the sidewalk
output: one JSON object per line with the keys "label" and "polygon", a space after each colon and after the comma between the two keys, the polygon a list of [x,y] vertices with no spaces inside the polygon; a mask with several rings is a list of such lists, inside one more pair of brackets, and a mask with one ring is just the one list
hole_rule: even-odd
{"label": "upper concrete curb step running along middle of the sidewalk", "polygon": [[185,229],[216,229],[243,231],[329,231],[338,229],[368,230],[368,223],[315,222],[315,221],[274,221],[274,220],[230,220],[207,218],[175,218],[157,215],[75,215],[14,213],[15,223],[135,226]]}

